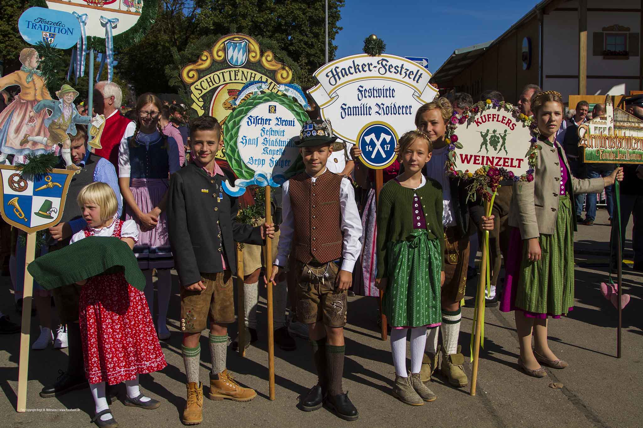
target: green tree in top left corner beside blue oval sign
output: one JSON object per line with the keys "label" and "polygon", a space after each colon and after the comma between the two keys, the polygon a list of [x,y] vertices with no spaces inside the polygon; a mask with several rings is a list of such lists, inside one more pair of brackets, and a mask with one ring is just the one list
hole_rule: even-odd
{"label": "green tree in top left corner beside blue oval sign", "polygon": [[20,51],[30,47],[21,37],[18,29],[18,18],[28,7],[28,0],[2,0],[0,6],[0,60],[3,62],[4,74],[20,69]]}

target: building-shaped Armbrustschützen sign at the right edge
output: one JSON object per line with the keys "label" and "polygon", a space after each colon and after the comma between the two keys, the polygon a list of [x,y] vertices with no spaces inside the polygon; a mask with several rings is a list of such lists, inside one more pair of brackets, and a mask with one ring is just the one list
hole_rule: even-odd
{"label": "building-shaped Armbrustsch\u00fctzen sign at the right edge", "polygon": [[606,113],[578,128],[584,161],[602,164],[643,164],[643,121],[605,103]]}

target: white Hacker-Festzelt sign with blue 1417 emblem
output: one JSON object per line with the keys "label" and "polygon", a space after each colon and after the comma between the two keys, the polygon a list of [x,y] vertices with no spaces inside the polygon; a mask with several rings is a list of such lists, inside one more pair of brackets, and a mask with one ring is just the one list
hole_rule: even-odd
{"label": "white Hacker-Festzelt sign with blue 1417 emblem", "polygon": [[[395,138],[394,147],[395,134],[415,129],[415,112],[438,92],[429,83],[431,73],[395,55],[347,56],[323,65],[314,75],[320,83],[309,93],[321,116],[331,121],[338,137],[363,146],[363,157],[377,150],[372,162],[367,159],[371,167],[392,162],[384,143]],[[374,132],[364,132],[371,125],[377,125]],[[367,147],[372,149],[368,153]]]}

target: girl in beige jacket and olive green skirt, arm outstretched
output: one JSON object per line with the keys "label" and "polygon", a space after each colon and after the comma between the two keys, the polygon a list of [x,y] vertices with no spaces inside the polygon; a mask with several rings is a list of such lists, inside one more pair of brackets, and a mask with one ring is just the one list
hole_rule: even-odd
{"label": "girl in beige jacket and olive green skirt, arm outstretched", "polygon": [[507,280],[500,311],[515,311],[521,370],[544,377],[547,372],[541,364],[568,366],[548,346],[547,317],[560,318],[574,307],[574,194],[600,193],[622,180],[623,173],[617,168],[602,178],[573,176],[565,150],[556,141],[563,119],[561,94],[552,90],[534,94],[531,110],[540,150],[532,180],[513,185]]}

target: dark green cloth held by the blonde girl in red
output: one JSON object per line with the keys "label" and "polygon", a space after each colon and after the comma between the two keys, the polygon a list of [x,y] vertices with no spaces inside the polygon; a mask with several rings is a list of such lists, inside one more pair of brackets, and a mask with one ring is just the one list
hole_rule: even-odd
{"label": "dark green cloth held by the blonde girl in red", "polygon": [[145,276],[127,243],[117,237],[88,236],[60,250],[47,253],[27,266],[34,280],[46,290],[87,278],[123,271],[132,287],[143,291]]}

